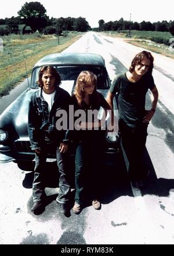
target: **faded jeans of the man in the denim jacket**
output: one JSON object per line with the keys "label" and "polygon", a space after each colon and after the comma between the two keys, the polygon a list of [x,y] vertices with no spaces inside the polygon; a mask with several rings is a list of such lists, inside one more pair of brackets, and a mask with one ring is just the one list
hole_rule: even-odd
{"label": "faded jeans of the man in the denim jacket", "polygon": [[[57,166],[59,168],[59,195],[57,201],[59,203],[66,203],[69,199],[71,192],[69,175],[68,175],[68,154],[60,153],[59,148],[56,150]],[[32,183],[32,197],[33,201],[42,201],[45,199],[45,185],[44,185],[44,167],[46,163],[48,150],[42,149],[41,153],[35,154],[35,168],[34,168],[34,181]],[[57,182],[58,183],[58,182]],[[58,184],[57,184],[58,185]]]}

